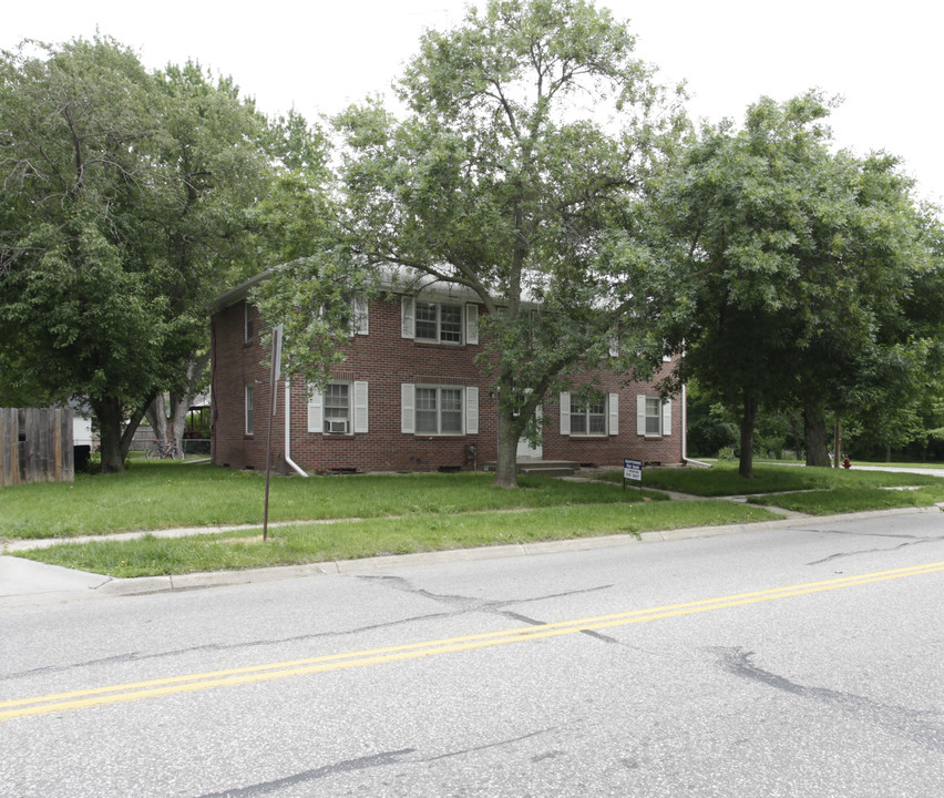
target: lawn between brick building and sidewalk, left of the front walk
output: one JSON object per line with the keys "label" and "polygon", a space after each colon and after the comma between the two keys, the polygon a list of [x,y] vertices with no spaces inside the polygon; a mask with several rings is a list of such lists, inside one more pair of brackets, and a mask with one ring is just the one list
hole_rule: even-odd
{"label": "lawn between brick building and sidewalk, left of the front walk", "polygon": [[[485,473],[274,477],[269,521],[447,514],[638,501],[595,482],[523,477],[520,490]],[[174,526],[260,524],[263,474],[176,462],[136,462],[122,474],[0,490],[0,535],[60,538]],[[653,493],[655,500],[665,497]]]}

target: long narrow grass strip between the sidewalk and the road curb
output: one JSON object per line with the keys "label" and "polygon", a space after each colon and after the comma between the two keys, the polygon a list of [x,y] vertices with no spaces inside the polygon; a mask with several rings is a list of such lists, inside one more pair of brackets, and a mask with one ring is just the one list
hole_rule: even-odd
{"label": "long narrow grass strip between the sidewalk and the road curb", "polygon": [[186,538],[146,535],[134,541],[103,539],[61,543],[21,552],[19,556],[115,577],[155,576],[638,534],[777,518],[780,516],[762,508],[724,501],[645,501],[298,524],[269,529],[265,543],[260,530]]}

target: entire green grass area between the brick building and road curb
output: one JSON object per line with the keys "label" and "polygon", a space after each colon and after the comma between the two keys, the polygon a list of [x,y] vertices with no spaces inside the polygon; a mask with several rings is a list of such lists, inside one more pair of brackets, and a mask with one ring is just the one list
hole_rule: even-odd
{"label": "entire green grass area between the brick building and road curb", "polygon": [[[749,504],[710,498],[667,501],[651,490],[640,493],[635,483],[620,490],[613,481],[622,482],[622,472],[588,482],[526,477],[519,490],[494,488],[493,477],[482,473],[277,477],[269,520],[291,523],[270,526],[263,543],[261,474],[140,461],[123,474],[0,490],[0,535],[103,535],[20,555],[124,577],[752,523],[780,518],[777,508],[829,514],[944,501],[944,480],[925,474],[786,466],[758,466],[756,474],[743,480],[737,466],[727,463],[710,470],[647,469],[644,483],[701,497],[778,495],[755,495]],[[889,490],[902,485],[920,489]],[[119,531],[229,524],[256,529],[107,539]]]}

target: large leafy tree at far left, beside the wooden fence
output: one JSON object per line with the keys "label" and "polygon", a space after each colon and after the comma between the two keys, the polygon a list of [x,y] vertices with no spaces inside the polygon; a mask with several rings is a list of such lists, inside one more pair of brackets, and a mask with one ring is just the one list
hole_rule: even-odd
{"label": "large leafy tree at far left, beside the wooden fence", "polygon": [[148,73],[110,39],[0,59],[0,347],[35,392],[89,402],[104,470],[206,348],[259,126],[228,82]]}

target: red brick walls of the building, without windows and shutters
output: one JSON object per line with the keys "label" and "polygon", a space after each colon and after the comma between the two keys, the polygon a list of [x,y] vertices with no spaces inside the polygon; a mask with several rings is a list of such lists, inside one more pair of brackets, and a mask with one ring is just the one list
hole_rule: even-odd
{"label": "red brick walls of the building, without windows and shutters", "polygon": [[[238,303],[213,318],[213,461],[233,468],[265,468],[266,424],[269,402],[267,357],[256,339],[244,344],[245,304]],[[326,436],[308,432],[307,389],[296,381],[291,389],[290,456],[306,471],[430,471],[441,467],[471,469],[466,444],[478,447],[478,463],[494,460],[497,449],[497,402],[489,379],[474,365],[480,345],[422,344],[401,337],[400,303],[377,301],[370,307],[370,334],[355,336],[339,380],[368,382],[368,433]],[[414,385],[474,386],[479,389],[479,433],[422,436],[401,432],[401,391]],[[255,387],[255,431],[245,429],[245,386]],[[681,461],[681,407],[673,402],[671,434],[644,439],[636,434],[636,395],[649,386],[622,386],[616,376],[602,375],[604,391],[619,393],[619,434],[579,438],[560,433],[557,398],[544,408],[544,459],[575,460],[597,466],[619,466],[623,458],[677,463]],[[285,387],[277,389],[273,426],[273,468],[288,472],[285,463]],[[649,390],[648,392],[654,392]]]}

